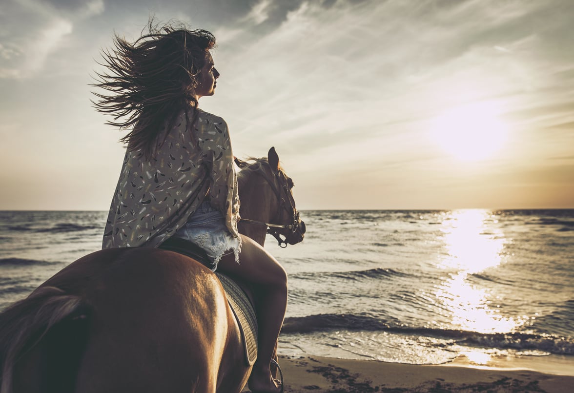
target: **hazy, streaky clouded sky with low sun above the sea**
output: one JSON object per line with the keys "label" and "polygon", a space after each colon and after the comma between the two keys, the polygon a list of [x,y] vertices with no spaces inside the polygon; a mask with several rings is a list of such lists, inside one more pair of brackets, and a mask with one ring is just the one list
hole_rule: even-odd
{"label": "hazy, streaky clouded sky with low sun above the sea", "polygon": [[2,0],[0,209],[109,208],[89,84],[150,15],[215,34],[200,107],[300,210],[574,208],[571,0]]}

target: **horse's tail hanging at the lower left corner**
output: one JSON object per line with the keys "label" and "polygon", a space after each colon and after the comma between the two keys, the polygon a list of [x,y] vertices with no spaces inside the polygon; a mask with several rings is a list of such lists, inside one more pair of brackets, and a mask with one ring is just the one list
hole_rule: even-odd
{"label": "horse's tail hanging at the lower left corner", "polygon": [[2,312],[0,393],[12,393],[17,361],[32,351],[50,329],[64,320],[85,320],[85,311],[84,302],[78,295],[46,286]]}

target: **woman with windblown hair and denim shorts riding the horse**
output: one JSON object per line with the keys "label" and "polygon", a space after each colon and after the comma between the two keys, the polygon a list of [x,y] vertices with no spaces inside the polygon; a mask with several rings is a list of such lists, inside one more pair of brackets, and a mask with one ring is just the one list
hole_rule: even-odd
{"label": "woman with windblown hair and denim shorts riding the horse", "polygon": [[[260,294],[259,353],[249,379],[254,392],[278,392],[270,360],[285,316],[287,276],[258,243],[237,231],[239,199],[227,124],[201,111],[219,72],[205,30],[150,24],[133,44],[115,36],[104,52],[106,90],[96,108],[131,131],[111,203],[103,248],[158,247],[170,236],[207,252],[212,270],[251,283]],[[118,120],[121,119],[121,120]],[[239,252],[241,251],[241,254]]]}

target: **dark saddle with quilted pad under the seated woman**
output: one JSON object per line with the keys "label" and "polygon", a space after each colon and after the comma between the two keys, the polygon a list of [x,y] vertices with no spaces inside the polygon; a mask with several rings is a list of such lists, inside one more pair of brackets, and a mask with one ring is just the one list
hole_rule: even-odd
{"label": "dark saddle with quilted pad under the seated woman", "polygon": [[[197,244],[180,238],[169,238],[160,245],[162,250],[177,252],[189,258],[195,259],[211,269],[210,259],[205,251]],[[245,361],[247,365],[253,365],[257,359],[258,326],[255,307],[245,291],[229,276],[215,272],[219,282],[227,295],[227,302],[235,316],[235,320],[241,332]]]}

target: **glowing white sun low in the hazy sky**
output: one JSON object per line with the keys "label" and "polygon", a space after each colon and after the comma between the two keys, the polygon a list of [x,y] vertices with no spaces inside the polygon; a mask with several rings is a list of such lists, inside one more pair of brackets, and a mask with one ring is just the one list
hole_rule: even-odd
{"label": "glowing white sun low in the hazy sky", "polygon": [[494,103],[474,103],[452,108],[437,116],[431,127],[433,140],[462,161],[491,157],[506,142],[508,127]]}

